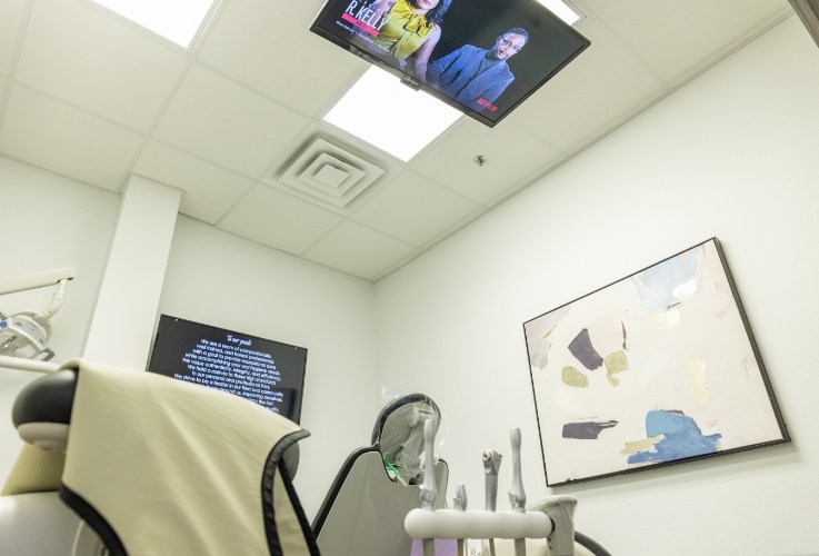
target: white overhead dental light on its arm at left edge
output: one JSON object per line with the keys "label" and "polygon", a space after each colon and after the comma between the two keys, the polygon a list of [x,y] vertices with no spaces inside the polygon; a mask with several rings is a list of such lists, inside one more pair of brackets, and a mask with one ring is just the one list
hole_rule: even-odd
{"label": "white overhead dental light on its arm at left edge", "polygon": [[54,353],[48,347],[48,341],[51,339],[49,319],[62,307],[66,284],[73,277],[73,268],[58,268],[0,279],[0,296],[56,286],[51,302],[40,312],[26,311],[8,317],[0,312],[0,356],[41,361],[47,361],[54,356]]}

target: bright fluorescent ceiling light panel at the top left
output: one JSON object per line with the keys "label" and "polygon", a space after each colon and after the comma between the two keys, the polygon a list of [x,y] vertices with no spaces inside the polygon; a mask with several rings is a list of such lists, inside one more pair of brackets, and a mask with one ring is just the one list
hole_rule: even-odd
{"label": "bright fluorescent ceiling light panel at the top left", "polygon": [[154,33],[189,48],[216,0],[93,0]]}

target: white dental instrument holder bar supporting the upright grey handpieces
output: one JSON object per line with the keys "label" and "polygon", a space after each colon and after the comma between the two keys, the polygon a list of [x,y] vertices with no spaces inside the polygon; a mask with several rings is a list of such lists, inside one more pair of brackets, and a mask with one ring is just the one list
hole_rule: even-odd
{"label": "white dental instrument holder bar supporting the upright grey handpieces", "polygon": [[[425,433],[426,430],[425,425]],[[432,428],[430,431],[432,433],[431,436],[433,436],[435,429]],[[515,436],[512,434],[512,438]],[[431,439],[428,441],[431,441]],[[515,449],[515,441],[512,447]],[[489,459],[491,461],[491,457]],[[428,454],[428,467],[425,470],[425,476],[432,474],[430,467],[433,458]],[[512,489],[515,490],[515,487]],[[423,492],[421,496],[421,504],[423,505]],[[489,497],[487,499],[489,500]],[[459,508],[460,500],[462,500],[462,509]],[[523,500],[519,502],[520,504],[525,503]],[[466,538],[543,538],[547,539],[551,556],[575,555],[575,527],[572,518],[577,498],[572,496],[551,496],[536,504],[532,510],[529,512],[467,512],[466,503],[466,489],[462,490],[459,485],[456,496],[456,507],[458,509],[427,509],[421,507],[412,509],[407,514],[403,522],[404,530],[412,538],[423,539],[425,556],[435,555],[433,539],[436,538],[458,540]],[[459,546],[462,546],[462,544],[459,543]]]}

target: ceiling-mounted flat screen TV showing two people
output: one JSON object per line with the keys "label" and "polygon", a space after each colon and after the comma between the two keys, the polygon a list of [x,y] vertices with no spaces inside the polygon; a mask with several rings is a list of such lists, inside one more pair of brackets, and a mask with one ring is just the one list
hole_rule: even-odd
{"label": "ceiling-mounted flat screen TV showing two people", "polygon": [[537,0],[328,0],[310,30],[489,127],[590,44]]}

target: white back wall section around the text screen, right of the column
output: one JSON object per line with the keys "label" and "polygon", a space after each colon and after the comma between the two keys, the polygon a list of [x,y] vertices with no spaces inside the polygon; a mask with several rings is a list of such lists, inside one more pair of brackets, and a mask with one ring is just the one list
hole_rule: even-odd
{"label": "white back wall section around the text screen, right of the column", "polygon": [[294,484],[312,518],[381,406],[372,284],[180,218],[159,311],[306,347]]}

